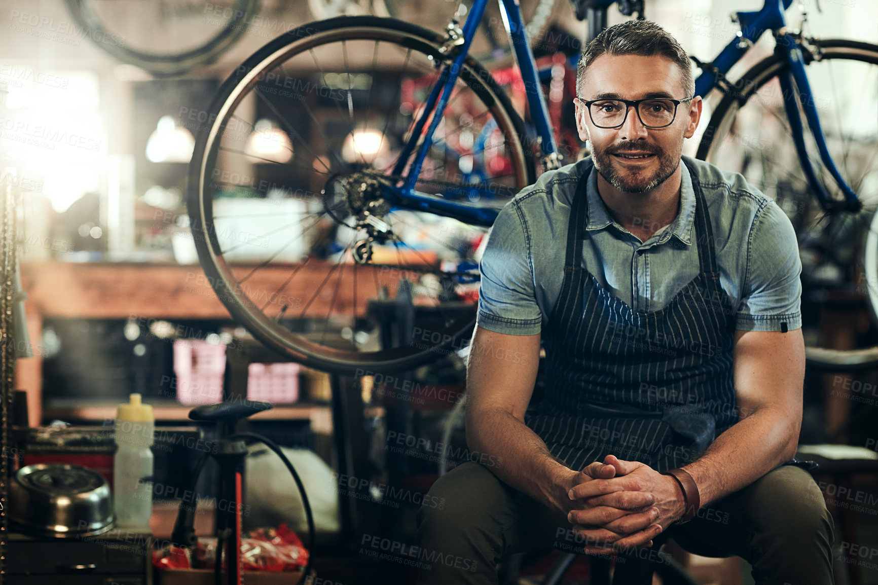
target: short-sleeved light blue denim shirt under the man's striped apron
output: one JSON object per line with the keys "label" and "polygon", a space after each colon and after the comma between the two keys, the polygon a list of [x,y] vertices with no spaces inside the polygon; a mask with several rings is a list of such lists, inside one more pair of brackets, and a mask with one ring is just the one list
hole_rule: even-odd
{"label": "short-sleeved light blue denim shirt under the man's striped apron", "polygon": [[[687,160],[708,204],[720,285],[737,307],[736,329],[802,327],[802,263],[786,214],[740,174]],[[564,280],[571,202],[585,166],[543,173],[500,211],[479,261],[480,327],[523,336],[548,323]],[[587,178],[584,267],[635,311],[665,307],[698,274],[695,195],[686,165],[680,166],[680,213],[646,242],[613,220],[598,193],[597,170]]]}

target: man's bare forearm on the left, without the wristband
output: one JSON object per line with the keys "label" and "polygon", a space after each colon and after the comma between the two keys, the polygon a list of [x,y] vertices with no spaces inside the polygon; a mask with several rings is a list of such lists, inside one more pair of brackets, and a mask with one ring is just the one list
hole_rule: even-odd
{"label": "man's bare forearm on the left, without the wristband", "polygon": [[507,485],[551,509],[571,509],[566,480],[575,472],[552,457],[543,439],[511,413],[498,408],[469,415],[466,440],[471,451],[502,460],[488,469]]}

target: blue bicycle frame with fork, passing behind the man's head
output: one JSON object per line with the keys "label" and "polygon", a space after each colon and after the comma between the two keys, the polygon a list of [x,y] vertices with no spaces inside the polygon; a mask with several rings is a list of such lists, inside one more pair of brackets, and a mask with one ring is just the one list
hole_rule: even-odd
{"label": "blue bicycle frame with fork, passing behind the man's head", "polygon": [[[389,185],[385,187],[387,194],[391,199],[396,200],[399,206],[428,211],[481,226],[493,224],[493,220],[496,219],[497,213],[500,210],[494,207],[476,206],[460,200],[445,199],[441,196],[421,193],[414,190],[414,184],[417,182],[417,177],[421,172],[424,158],[429,148],[434,144],[433,134],[439,125],[440,119],[442,119],[441,112],[444,112],[445,106],[448,105],[451,91],[457,83],[457,77],[464,66],[471,41],[475,36],[489,1],[473,0],[472,7],[462,28],[463,43],[457,46],[457,51],[453,52],[443,62],[439,80],[430,90],[423,112],[421,112],[420,118],[416,120],[414,130],[399,155],[396,168],[393,170],[393,174],[398,176],[414,155],[414,161],[409,166],[404,184],[399,187]],[[749,50],[752,43],[759,40],[759,37],[766,30],[774,32],[779,50],[783,51],[788,61],[789,76],[780,76],[781,90],[784,108],[795,141],[796,152],[802,163],[802,170],[804,170],[805,176],[808,177],[810,184],[817,191],[817,198],[820,200],[821,205],[824,206],[824,209],[845,208],[850,211],[857,211],[862,205],[860,199],[857,198],[856,194],[841,177],[835,163],[832,161],[829,150],[826,148],[823,130],[817,117],[817,108],[814,99],[811,98],[810,85],[805,74],[802,49],[799,47],[795,35],[787,31],[787,24],[783,17],[783,11],[781,11],[781,2],[783,9],[786,10],[793,0],[765,0],[765,4],[759,11],[737,12],[738,22],[741,25],[738,37],[731,40],[716,59],[712,61],[711,69],[704,71],[695,80],[695,95],[706,96],[715,87],[723,90],[726,74]],[[609,6],[615,4],[615,0],[597,0],[595,4]],[[545,98],[543,97],[542,85],[539,81],[540,76],[536,69],[534,55],[530,50],[529,40],[525,34],[522,13],[516,0],[500,0],[500,8],[515,52],[515,59],[522,72],[530,118],[536,129],[538,150],[547,168],[555,167],[559,160],[558,144],[551,129],[549,113]],[[817,142],[817,149],[821,160],[844,193],[844,201],[831,199],[830,194],[817,180],[817,175],[805,150],[804,129],[802,119],[799,117],[799,104],[796,100],[794,88],[797,88],[798,94],[801,97],[802,109]],[[426,133],[424,133],[425,126],[427,126]],[[421,134],[423,134],[423,140],[419,145],[418,142]],[[489,187],[479,186],[479,184],[466,185],[466,190],[474,192],[484,191],[486,194],[490,194],[491,191]]]}

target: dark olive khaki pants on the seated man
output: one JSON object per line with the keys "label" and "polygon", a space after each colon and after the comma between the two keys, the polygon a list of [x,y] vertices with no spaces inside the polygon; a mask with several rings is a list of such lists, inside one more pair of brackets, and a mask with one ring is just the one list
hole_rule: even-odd
{"label": "dark olive khaki pants on the seated man", "polygon": [[[558,548],[576,552],[578,536],[565,516],[510,488],[478,463],[444,474],[418,511],[421,585],[497,583],[497,562],[507,554]],[[661,537],[698,553],[709,545],[753,567],[758,585],[831,585],[832,518],[817,483],[806,471],[781,466],[746,488],[702,508],[687,524]],[[616,560],[615,582],[635,585],[666,562],[639,549]],[[665,539],[666,539],[665,538]],[[579,545],[582,541],[579,540]]]}

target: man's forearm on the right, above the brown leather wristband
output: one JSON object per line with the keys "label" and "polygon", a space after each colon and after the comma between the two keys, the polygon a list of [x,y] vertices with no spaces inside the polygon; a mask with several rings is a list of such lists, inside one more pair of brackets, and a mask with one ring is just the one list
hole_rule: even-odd
{"label": "man's forearm on the right, above the brown leather wristband", "polygon": [[702,506],[745,488],[795,456],[799,425],[779,409],[763,408],[716,437],[683,466],[698,486]]}

